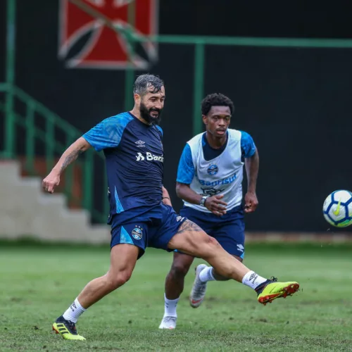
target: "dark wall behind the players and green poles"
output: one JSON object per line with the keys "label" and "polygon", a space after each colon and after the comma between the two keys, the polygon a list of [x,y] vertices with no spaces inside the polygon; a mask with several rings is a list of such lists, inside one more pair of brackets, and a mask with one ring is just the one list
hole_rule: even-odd
{"label": "dark wall behind the players and green poles", "polygon": [[[263,5],[251,12],[253,4],[237,7],[224,1],[226,7],[214,8],[210,3],[213,1],[161,1],[159,32],[301,37],[303,26],[304,35],[310,37],[348,36],[344,9],[328,31],[318,15],[303,16],[300,27]],[[2,1],[1,14],[4,5]],[[221,25],[210,26],[212,18],[221,18]],[[246,25],[249,18],[251,25]],[[292,13],[290,18],[294,18]],[[19,87],[82,132],[123,111],[123,71],[68,69],[58,60],[57,1],[37,0],[32,6],[18,0],[17,20]],[[0,31],[4,48],[4,25]],[[158,51],[159,61],[149,71],[165,80],[168,99],[161,124],[165,187],[179,209],[175,175],[182,148],[192,137],[194,49],[161,44]],[[260,206],[247,219],[249,231],[325,232],[328,227],[321,211],[325,197],[334,189],[352,189],[348,162],[351,61],[352,49],[206,47],[205,94],[222,92],[232,98],[236,111],[231,127],[252,134],[260,153]],[[4,67],[4,55],[0,65]],[[21,140],[18,144],[23,147]]]}

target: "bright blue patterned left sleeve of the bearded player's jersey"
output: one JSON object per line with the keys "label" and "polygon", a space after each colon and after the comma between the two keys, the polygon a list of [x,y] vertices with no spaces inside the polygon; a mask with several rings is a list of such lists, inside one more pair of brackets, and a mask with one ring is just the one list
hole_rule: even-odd
{"label": "bright blue patterned left sleeve of the bearded player's jersey", "polygon": [[96,150],[101,151],[106,148],[116,148],[122,138],[122,133],[132,116],[127,113],[106,118],[98,125],[94,126],[83,138]]}

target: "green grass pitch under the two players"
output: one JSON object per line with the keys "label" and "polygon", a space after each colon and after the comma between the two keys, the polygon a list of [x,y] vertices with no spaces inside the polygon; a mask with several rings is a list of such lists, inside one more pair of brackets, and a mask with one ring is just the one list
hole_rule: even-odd
{"label": "green grass pitch under the two players", "polygon": [[87,341],[65,341],[51,323],[106,272],[109,249],[1,242],[0,351],[352,351],[351,246],[249,245],[246,265],[297,280],[301,291],[264,307],[248,287],[210,282],[206,301],[193,309],[192,271],[177,329],[160,331],[171,260],[147,250],[125,287],[82,315],[77,329]]}

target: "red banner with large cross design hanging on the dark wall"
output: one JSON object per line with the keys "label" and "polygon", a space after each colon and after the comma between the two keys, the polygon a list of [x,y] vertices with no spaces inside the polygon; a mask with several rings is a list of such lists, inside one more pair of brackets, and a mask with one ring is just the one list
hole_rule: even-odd
{"label": "red banner with large cross design hanging on the dark wall", "polygon": [[[134,3],[137,34],[158,33],[158,0],[80,0],[80,3],[122,27],[129,26],[128,5]],[[59,4],[58,57],[68,68],[125,69],[130,65],[122,35],[69,0],[59,0]],[[132,62],[134,68],[147,69],[150,62],[157,60],[157,44],[146,42],[142,47],[144,58],[134,54]]]}

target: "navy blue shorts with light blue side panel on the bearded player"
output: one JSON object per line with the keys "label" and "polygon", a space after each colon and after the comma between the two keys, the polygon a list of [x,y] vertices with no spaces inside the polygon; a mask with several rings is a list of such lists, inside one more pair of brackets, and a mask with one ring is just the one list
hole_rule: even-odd
{"label": "navy blue shorts with light blue side panel on the bearded player", "polygon": [[168,243],[184,220],[187,219],[163,203],[144,208],[142,212],[138,210],[138,213],[132,209],[115,214],[110,220],[111,248],[116,244],[133,244],[141,249],[139,258],[146,247],[172,251],[168,249]]}

